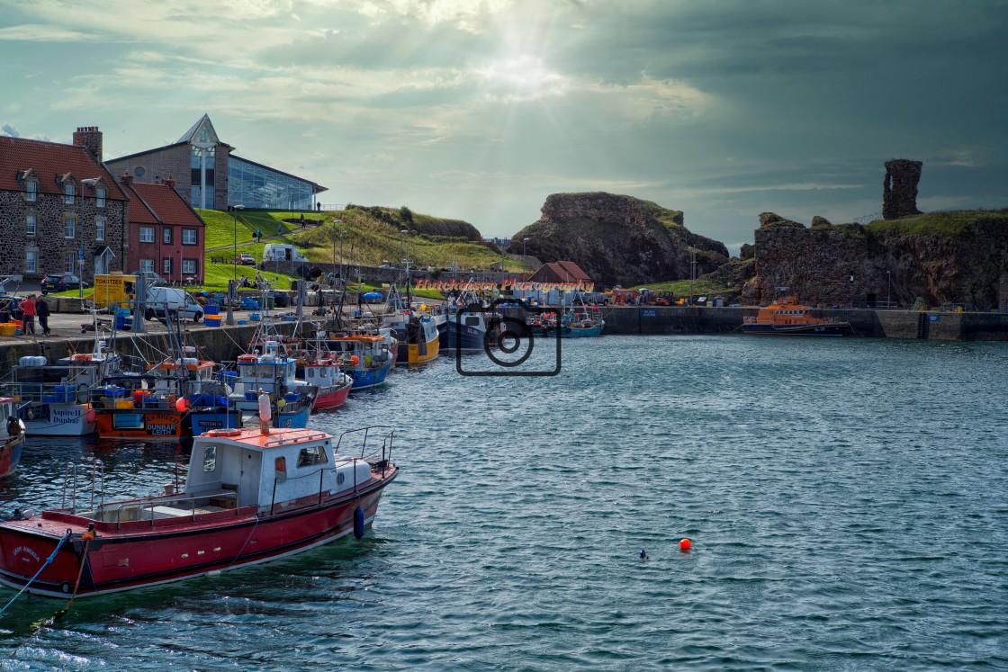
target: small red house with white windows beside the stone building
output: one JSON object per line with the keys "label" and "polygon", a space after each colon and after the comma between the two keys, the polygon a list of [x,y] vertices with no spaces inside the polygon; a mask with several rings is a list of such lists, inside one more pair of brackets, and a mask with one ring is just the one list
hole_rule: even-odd
{"label": "small red house with white windows beside the stone building", "polygon": [[132,207],[129,272],[154,271],[172,282],[203,282],[206,224],[175,190],[175,182],[144,184],[123,175]]}

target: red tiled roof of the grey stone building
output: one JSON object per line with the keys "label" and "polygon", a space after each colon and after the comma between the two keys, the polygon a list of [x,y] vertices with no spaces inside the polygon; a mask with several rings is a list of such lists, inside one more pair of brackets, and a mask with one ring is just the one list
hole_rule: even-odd
{"label": "red tiled roof of the grey stone building", "polygon": [[[62,193],[57,178],[71,174],[79,184],[82,179],[101,178],[108,189],[108,198],[127,200],[112,173],[84,147],[0,137],[0,190],[23,191],[24,185],[18,182],[18,176],[28,170],[34,170],[38,177],[39,193]],[[95,194],[88,186],[81,187],[80,192]]]}

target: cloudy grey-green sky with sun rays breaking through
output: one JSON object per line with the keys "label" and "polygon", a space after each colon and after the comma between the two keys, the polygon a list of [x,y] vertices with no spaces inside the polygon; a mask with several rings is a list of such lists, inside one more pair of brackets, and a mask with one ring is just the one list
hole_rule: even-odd
{"label": "cloudy grey-green sky with sun rays breaking through", "polygon": [[549,193],[685,213],[737,251],[772,211],[1008,207],[1004,0],[3,2],[0,133],[105,156],[205,112],[245,158],[510,236]]}

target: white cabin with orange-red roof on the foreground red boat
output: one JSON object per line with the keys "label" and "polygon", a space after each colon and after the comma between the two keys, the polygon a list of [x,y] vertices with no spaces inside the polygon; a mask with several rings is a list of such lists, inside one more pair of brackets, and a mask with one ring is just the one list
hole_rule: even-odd
{"label": "white cabin with orange-red roof on the foreground red boat", "polygon": [[333,437],[326,432],[218,430],[194,440],[185,495],[234,493],[225,506],[234,506],[236,500],[238,507],[272,508],[320,493],[352,491],[370,479],[370,464],[337,455]]}

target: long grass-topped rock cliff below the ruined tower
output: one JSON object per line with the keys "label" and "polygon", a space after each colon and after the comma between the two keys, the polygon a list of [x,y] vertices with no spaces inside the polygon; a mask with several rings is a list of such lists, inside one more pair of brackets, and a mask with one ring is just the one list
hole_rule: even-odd
{"label": "long grass-topped rock cliff below the ruined tower", "polygon": [[779,287],[810,304],[929,305],[997,302],[1008,271],[1008,210],[931,213],[867,226],[804,225],[772,213],[756,231],[755,277],[742,301],[766,303]]}

